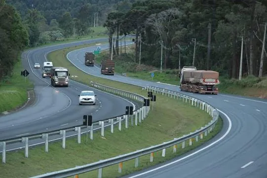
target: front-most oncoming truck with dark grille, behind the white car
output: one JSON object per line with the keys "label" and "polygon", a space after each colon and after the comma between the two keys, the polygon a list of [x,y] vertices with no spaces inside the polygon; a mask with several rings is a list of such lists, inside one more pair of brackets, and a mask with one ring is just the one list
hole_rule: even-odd
{"label": "front-most oncoming truck with dark grille, behind the white car", "polygon": [[56,86],[69,86],[69,69],[62,67],[51,68],[51,85]]}

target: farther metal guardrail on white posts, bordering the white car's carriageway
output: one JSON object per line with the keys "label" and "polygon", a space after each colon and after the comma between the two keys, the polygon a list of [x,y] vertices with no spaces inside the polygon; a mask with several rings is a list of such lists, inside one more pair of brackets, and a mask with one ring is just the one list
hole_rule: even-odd
{"label": "farther metal guardrail on white posts, bordering the white car's carriageway", "polygon": [[[130,98],[132,100],[136,100],[139,102],[143,102],[144,99],[148,99],[144,96],[135,94],[135,93],[131,93],[131,92],[127,92],[127,91],[123,91],[123,90],[118,90],[112,87],[108,87],[105,85],[101,85],[95,82],[91,82],[91,86],[94,88],[97,88],[99,90],[105,91],[105,92],[109,92],[115,95],[119,95],[122,97],[126,97],[126,98]],[[104,137],[104,128],[107,126],[111,126],[111,132],[113,133],[113,126],[114,124],[118,123],[118,129],[119,131],[121,130],[121,123],[122,121],[125,121],[125,128],[127,129],[129,127],[129,119],[131,119],[131,124],[133,125],[133,117],[135,117],[135,125],[138,125],[138,119],[139,119],[139,123],[142,122],[142,120],[144,120],[146,118],[146,116],[148,115],[150,111],[150,107],[139,107],[136,108],[133,111],[133,115],[118,115],[116,117],[112,117],[112,118],[105,118],[102,120],[98,120],[97,122],[93,122],[92,126],[88,127],[87,126],[76,126],[76,127],[69,127],[69,128],[65,128],[65,129],[61,129],[61,130],[54,130],[54,131],[50,131],[50,132],[44,132],[44,133],[39,133],[39,134],[33,134],[33,135],[25,135],[23,137],[17,137],[17,138],[12,138],[12,139],[7,139],[7,140],[1,140],[0,141],[0,147],[2,147],[1,152],[2,152],[2,163],[6,163],[6,145],[7,144],[12,144],[12,143],[19,143],[19,142],[25,142],[25,157],[28,158],[29,156],[29,147],[31,145],[29,145],[29,141],[30,140],[37,140],[37,139],[42,139],[44,142],[40,143],[43,144],[44,143],[44,147],[45,147],[45,152],[48,152],[48,142],[49,141],[48,138],[50,138],[51,136],[58,136],[61,135],[61,138],[56,139],[56,140],[60,140],[62,139],[62,148],[66,148],[66,138],[68,137],[73,137],[77,135],[77,142],[81,143],[81,134],[84,133],[88,133],[90,132],[90,139],[93,140],[93,130],[97,130],[97,129],[101,129],[101,135]],[[130,116],[128,118],[128,116]],[[105,123],[108,123],[108,125],[105,125]],[[94,126],[99,125],[98,128],[94,129]],[[81,132],[81,129],[85,129],[87,128],[87,130],[85,132]],[[89,130],[90,129],[90,130]],[[67,132],[76,132],[76,134],[71,135],[71,136],[67,136]],[[53,140],[54,141],[54,140]],[[36,144],[35,144],[36,145]],[[20,148],[17,148],[20,149]],[[15,150],[15,149],[12,149]]]}

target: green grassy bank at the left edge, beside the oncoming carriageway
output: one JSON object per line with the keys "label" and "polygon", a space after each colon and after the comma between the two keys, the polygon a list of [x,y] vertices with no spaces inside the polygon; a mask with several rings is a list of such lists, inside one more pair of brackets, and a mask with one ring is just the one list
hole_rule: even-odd
{"label": "green grassy bank at the left edge, beside the oncoming carriageway", "polygon": [[12,76],[6,76],[0,81],[0,113],[22,107],[28,100],[27,90],[33,89],[28,77],[20,75],[24,71],[21,61],[14,66]]}

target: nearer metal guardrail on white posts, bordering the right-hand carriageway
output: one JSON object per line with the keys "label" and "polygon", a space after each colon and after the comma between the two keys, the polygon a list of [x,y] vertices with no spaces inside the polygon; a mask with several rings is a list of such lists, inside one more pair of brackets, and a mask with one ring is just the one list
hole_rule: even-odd
{"label": "nearer metal guardrail on white posts, bordering the right-hand carriageway", "polygon": [[[158,87],[145,87],[143,90],[147,91],[153,91],[154,93],[162,94],[164,96],[174,98],[177,100],[182,100],[183,102],[190,103],[192,106],[198,107],[201,110],[206,111],[209,113],[210,116],[212,116],[212,120],[206,124],[204,127],[201,127],[201,129],[194,131],[193,133],[190,133],[188,135],[184,135],[180,138],[175,138],[174,140],[171,140],[169,142],[164,142],[161,144],[157,144],[148,148],[144,148],[141,150],[137,150],[134,152],[130,152],[127,154],[119,155],[113,158],[109,158],[106,160],[101,160],[98,162],[86,164],[83,166],[77,166],[75,168],[70,168],[66,170],[56,171],[52,173],[46,173],[43,175],[35,176],[32,178],[67,178],[70,176],[75,176],[83,173],[87,173],[93,170],[98,169],[98,178],[102,178],[102,168],[111,166],[114,164],[118,164],[118,172],[122,172],[122,163],[131,159],[135,159],[135,167],[138,167],[139,164],[139,157],[150,154],[150,162],[153,162],[154,152],[162,150],[162,156],[165,156],[166,148],[173,147],[173,152],[175,153],[177,151],[177,145],[179,143],[182,143],[182,148],[185,148],[186,142],[189,141],[189,145],[192,145],[193,139],[195,139],[195,142],[198,142],[198,137],[200,139],[203,139],[204,136],[207,136],[215,127],[215,124],[218,121],[219,118],[219,112],[216,108],[212,107],[206,102],[203,102],[201,100],[198,100],[196,98],[193,98],[188,95],[181,94],[179,92],[166,90],[163,88]],[[204,134],[204,136],[203,136]]]}

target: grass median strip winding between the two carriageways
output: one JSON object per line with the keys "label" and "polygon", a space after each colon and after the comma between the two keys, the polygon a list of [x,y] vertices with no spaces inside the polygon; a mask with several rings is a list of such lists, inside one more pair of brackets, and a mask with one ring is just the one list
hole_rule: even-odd
{"label": "grass median strip winding between the two carriageways", "polygon": [[[55,66],[69,68],[71,75],[78,76],[74,78],[78,82],[89,85],[90,81],[94,81],[143,96],[147,95],[147,92],[140,87],[94,77],[76,69],[65,56],[68,52],[80,47],[84,47],[84,45],[51,52],[48,54],[48,59]],[[115,126],[114,134],[111,134],[109,128],[105,129],[104,138],[100,136],[99,132],[94,132],[93,141],[85,142],[86,136],[82,136],[81,144],[77,143],[76,138],[68,139],[66,149],[61,147],[61,142],[50,143],[48,153],[44,152],[44,146],[30,148],[29,158],[24,158],[23,151],[7,153],[7,163],[0,165],[1,175],[26,178],[92,163],[178,138],[199,129],[210,120],[211,117],[206,112],[192,107],[190,104],[157,95],[154,109],[151,109],[149,116],[138,126],[131,126],[128,129],[122,127],[121,131],[118,131],[117,126]],[[140,158],[138,168],[134,168],[133,161],[127,161],[123,163],[122,174],[117,173],[118,165],[104,168],[103,178],[119,177],[181,155],[214,137],[221,130],[221,127],[222,121],[219,120],[214,131],[207,137],[199,142],[193,142],[192,146],[188,146],[189,143],[187,143],[184,149],[181,149],[181,145],[179,145],[177,153],[172,153],[171,148],[166,150],[165,157],[160,156],[161,152],[155,153],[152,163],[149,161],[149,155]],[[18,167],[19,169],[17,169]],[[93,171],[79,175],[79,178],[97,177],[96,174],[97,171]]]}

